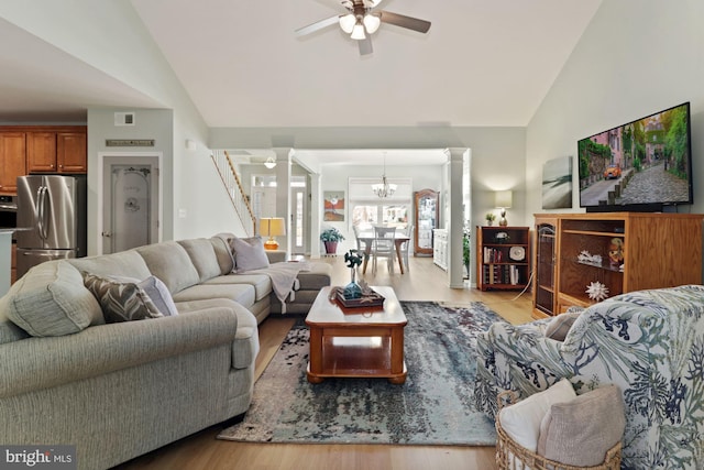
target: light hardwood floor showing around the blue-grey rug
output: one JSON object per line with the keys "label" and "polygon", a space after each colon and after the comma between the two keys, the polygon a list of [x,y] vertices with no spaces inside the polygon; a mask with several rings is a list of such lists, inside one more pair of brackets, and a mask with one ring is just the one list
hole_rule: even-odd
{"label": "light hardwood floor showing around the blue-grey rug", "polygon": [[[316,260],[333,266],[332,285],[350,282],[350,271],[343,256]],[[371,265],[362,277],[370,285],[391,285],[400,300],[433,300],[463,304],[481,300],[513,324],[530,321],[530,292],[480,292],[448,287],[447,273],[430,258],[410,258],[410,270],[402,275],[398,265],[388,273],[381,263],[376,275]],[[256,376],[277,351],[287,331],[290,318],[267,318],[260,325],[261,351],[256,359]],[[276,397],[272,397],[276,400]],[[289,445],[245,444],[216,439],[222,425],[173,442],[116,469],[138,470],[370,470],[370,469],[495,469],[493,447],[461,446],[386,446],[386,445]]]}

